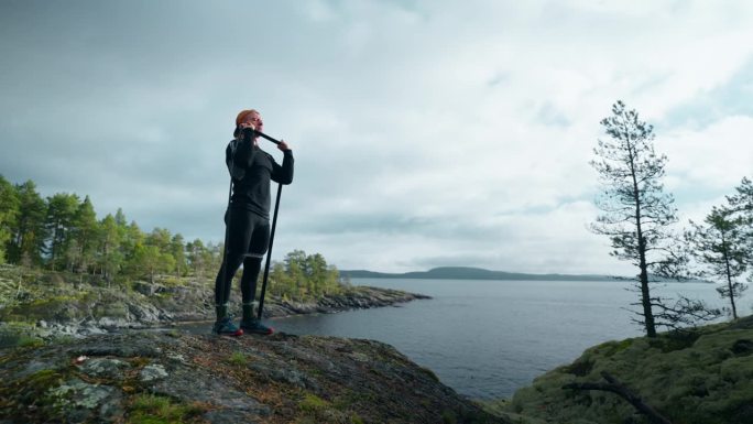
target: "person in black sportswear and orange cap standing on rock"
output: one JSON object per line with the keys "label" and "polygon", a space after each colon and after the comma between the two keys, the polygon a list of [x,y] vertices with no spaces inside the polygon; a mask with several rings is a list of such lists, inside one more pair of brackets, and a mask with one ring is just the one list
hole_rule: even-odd
{"label": "person in black sportswear and orange cap standing on rock", "polygon": [[[285,141],[281,141],[277,149],[283,151],[284,157],[279,165],[271,154],[259,148],[259,135],[254,130],[263,129],[264,121],[257,110],[242,110],[236,118],[234,139],[225,151],[225,162],[232,178],[232,195],[225,214],[225,258],[215,282],[217,322],[212,331],[219,335],[273,331],[257,319],[253,301],[262,257],[270,243],[270,181],[281,184],[293,182],[293,151]],[[243,316],[239,328],[228,314],[228,300],[232,278],[241,263]]]}

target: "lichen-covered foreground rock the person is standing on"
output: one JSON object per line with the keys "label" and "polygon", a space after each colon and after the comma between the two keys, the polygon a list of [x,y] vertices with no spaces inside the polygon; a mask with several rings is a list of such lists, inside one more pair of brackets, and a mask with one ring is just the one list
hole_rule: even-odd
{"label": "lichen-covered foreground rock the person is standing on", "polygon": [[131,331],[15,348],[3,423],[508,423],[371,340]]}

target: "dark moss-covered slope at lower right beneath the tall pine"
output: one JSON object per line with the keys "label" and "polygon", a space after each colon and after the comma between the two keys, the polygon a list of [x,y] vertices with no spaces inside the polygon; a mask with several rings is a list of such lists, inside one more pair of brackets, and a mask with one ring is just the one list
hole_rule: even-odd
{"label": "dark moss-covered slope at lower right beneath the tall pine", "polygon": [[604,372],[672,423],[753,423],[753,317],[592,347],[515,392],[509,412],[548,423],[648,423],[622,396],[572,388]]}

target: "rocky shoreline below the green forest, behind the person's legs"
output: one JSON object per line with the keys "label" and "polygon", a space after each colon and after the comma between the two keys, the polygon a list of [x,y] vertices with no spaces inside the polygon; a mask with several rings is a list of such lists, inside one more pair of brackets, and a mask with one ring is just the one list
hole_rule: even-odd
{"label": "rocky shoreline below the green forest, behind the person's legs", "polygon": [[[0,347],[13,346],[19,340],[80,337],[112,329],[215,318],[214,289],[206,281],[184,279],[172,284],[137,281],[129,287],[96,281],[66,281],[62,273],[41,271],[39,275],[22,279],[20,269],[6,267],[3,270],[4,274],[0,273]],[[338,294],[309,302],[270,295],[264,316],[336,313],[416,298],[428,296],[365,286],[343,287]],[[231,313],[240,315],[239,293],[233,292],[230,304],[236,308]]]}

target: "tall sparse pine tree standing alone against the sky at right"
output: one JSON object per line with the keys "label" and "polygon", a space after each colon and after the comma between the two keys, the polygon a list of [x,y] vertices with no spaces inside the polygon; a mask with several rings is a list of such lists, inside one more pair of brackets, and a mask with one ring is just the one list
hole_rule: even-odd
{"label": "tall sparse pine tree standing alone against the sky at right", "polygon": [[[609,140],[599,140],[597,160],[591,166],[599,173],[603,192],[596,204],[602,214],[591,225],[599,235],[609,236],[612,256],[630,261],[637,268],[635,278],[641,306],[641,319],[648,337],[656,336],[656,326],[673,327],[677,322],[657,322],[655,314],[690,312],[688,305],[667,306],[653,297],[648,283],[652,275],[676,276],[687,259],[674,243],[670,226],[677,222],[674,198],[662,184],[666,155],[654,151],[653,127],[642,121],[635,110],[626,110],[622,101],[612,106],[612,115],[601,121]],[[654,308],[658,308],[657,312]]]}

